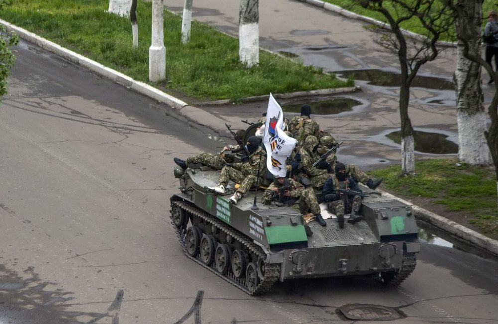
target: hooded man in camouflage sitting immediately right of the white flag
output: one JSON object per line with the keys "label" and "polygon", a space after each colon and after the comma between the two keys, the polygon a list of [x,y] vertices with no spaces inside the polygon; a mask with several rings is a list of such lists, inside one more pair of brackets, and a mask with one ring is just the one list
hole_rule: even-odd
{"label": "hooded man in camouflage sitting immediately right of the white flag", "polygon": [[325,169],[313,167],[313,163],[320,158],[320,154],[316,151],[317,148],[318,139],[315,136],[308,136],[299,149],[299,155],[301,157],[301,169],[310,178],[311,185],[313,188],[321,189],[329,178],[329,174]]}

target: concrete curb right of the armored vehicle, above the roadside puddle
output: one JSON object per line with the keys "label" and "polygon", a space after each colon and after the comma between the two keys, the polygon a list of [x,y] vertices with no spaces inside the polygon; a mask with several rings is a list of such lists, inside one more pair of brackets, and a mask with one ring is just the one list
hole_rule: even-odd
{"label": "concrete curb right of the armored vehicle, above the roadside puddle", "polygon": [[498,257],[498,241],[494,240],[492,238],[489,238],[487,236],[484,236],[476,231],[473,231],[472,229],[469,229],[463,225],[460,225],[459,223],[456,223],[452,220],[449,220],[448,218],[445,218],[443,216],[440,216],[436,213],[433,213],[431,211],[428,211],[426,209],[423,209],[420,206],[413,205],[409,201],[406,201],[402,198],[399,198],[397,196],[394,196],[388,192],[385,192],[383,190],[380,190],[382,193],[383,197],[388,197],[388,198],[393,198],[402,201],[405,204],[411,205],[413,209],[413,214],[415,217],[418,219],[436,227],[439,228],[447,233],[450,233],[451,235],[456,236],[457,238],[460,238],[466,242],[470,242],[473,245],[476,245],[482,249],[485,249],[486,251],[492,253],[496,257]]}

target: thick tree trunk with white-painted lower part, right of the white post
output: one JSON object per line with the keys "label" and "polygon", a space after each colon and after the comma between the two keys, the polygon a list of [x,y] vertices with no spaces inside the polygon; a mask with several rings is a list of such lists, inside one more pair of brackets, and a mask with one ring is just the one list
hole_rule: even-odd
{"label": "thick tree trunk with white-painted lower part, right of the white post", "polygon": [[259,63],[259,0],[240,0],[239,60],[248,68]]}

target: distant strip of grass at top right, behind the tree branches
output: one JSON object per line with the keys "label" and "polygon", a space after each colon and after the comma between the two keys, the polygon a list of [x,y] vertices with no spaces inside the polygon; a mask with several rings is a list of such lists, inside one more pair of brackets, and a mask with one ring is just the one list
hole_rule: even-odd
{"label": "distant strip of grass at top right, behind the tree branches", "polygon": [[[379,12],[374,12],[374,11],[369,11],[367,9],[362,8],[359,5],[355,5],[354,1],[352,0],[323,0],[324,2],[328,2],[337,6],[340,6],[346,10],[358,13],[362,16],[370,17],[376,20],[380,20],[383,22],[387,22],[387,20],[384,18],[384,16],[379,13]],[[389,6],[388,1],[385,1],[386,3],[386,8],[390,8],[390,12],[394,12],[392,10],[392,7]],[[483,3],[483,30],[484,30],[484,25],[488,22],[486,19],[486,14],[491,11],[495,10],[498,11],[498,4],[494,0],[484,0]],[[395,15],[394,15],[395,16]],[[422,24],[418,21],[418,19],[412,18],[406,22],[403,22],[401,24],[402,28],[413,31],[417,34],[425,35],[426,31],[422,27]],[[456,38],[453,35],[443,35],[442,39],[443,41],[456,41]]]}

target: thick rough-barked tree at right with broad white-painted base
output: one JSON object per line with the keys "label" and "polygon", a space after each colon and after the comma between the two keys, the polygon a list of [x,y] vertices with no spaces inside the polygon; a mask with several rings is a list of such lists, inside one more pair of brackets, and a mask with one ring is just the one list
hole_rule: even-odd
{"label": "thick rough-barked tree at right with broad white-painted base", "polygon": [[[458,158],[469,164],[490,164],[490,150],[486,144],[486,112],[481,89],[481,66],[467,59],[464,44],[467,40],[476,54],[481,56],[481,23],[483,0],[461,1],[466,17],[455,17],[455,31],[460,35],[457,43],[457,68],[454,80],[456,85]],[[468,35],[466,35],[468,33]]]}

